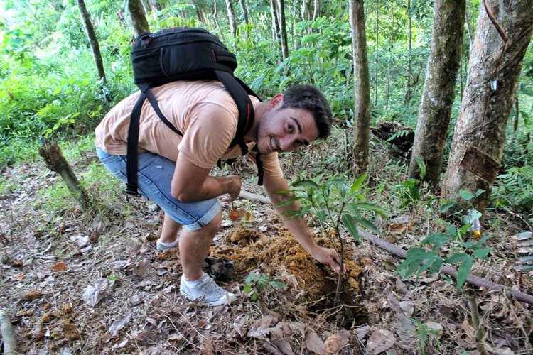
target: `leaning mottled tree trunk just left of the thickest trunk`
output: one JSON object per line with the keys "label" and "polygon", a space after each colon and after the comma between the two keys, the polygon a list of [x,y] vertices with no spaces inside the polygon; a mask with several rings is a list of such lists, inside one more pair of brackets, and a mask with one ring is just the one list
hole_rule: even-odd
{"label": "leaning mottled tree trunk just left of the thickest trunk", "polygon": [[441,178],[446,131],[456,97],[465,7],[466,0],[435,0],[433,7],[435,15],[431,51],[409,164],[409,178],[421,178],[416,158],[422,158],[426,164],[424,180],[434,186],[438,185]]}

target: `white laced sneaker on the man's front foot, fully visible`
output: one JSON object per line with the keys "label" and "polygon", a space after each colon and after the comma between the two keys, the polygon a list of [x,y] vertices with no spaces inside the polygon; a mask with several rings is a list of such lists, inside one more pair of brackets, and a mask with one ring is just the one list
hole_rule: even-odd
{"label": "white laced sneaker on the man's front foot, fully visible", "polygon": [[207,273],[204,273],[198,280],[190,282],[185,281],[185,278],[182,275],[180,293],[191,301],[202,298],[202,300],[200,300],[200,305],[207,306],[224,305],[225,303],[230,304],[237,300],[236,295],[227,292],[217,285]]}

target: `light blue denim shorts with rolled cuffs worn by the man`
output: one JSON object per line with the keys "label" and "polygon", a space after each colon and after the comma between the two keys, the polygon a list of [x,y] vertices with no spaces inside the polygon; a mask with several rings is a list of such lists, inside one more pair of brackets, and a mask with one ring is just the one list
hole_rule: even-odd
{"label": "light blue denim shorts with rolled cuffs worn by the man", "polygon": [[[122,182],[126,182],[126,155],[110,155],[101,148],[96,152],[102,164]],[[180,202],[171,195],[176,163],[161,155],[139,153],[138,185],[141,195],[157,204],[174,221],[189,231],[208,225],[221,210],[216,198],[198,202]]]}

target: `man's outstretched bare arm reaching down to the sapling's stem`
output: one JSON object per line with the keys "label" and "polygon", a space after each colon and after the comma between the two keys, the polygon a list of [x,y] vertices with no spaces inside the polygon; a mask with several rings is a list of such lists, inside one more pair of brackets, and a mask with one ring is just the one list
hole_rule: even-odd
{"label": "man's outstretched bare arm reaching down to the sapling's stem", "polygon": [[296,238],[298,243],[303,247],[303,249],[306,249],[306,251],[317,261],[331,266],[335,273],[339,273],[340,258],[338,257],[335,249],[318,246],[302,217],[288,217],[283,214],[284,212],[300,209],[300,205],[297,202],[294,202],[291,204],[286,204],[282,207],[278,207],[280,202],[290,197],[287,194],[276,193],[281,190],[289,190],[289,184],[287,181],[284,178],[269,179],[265,177],[264,188],[266,193],[269,195],[270,200],[274,204],[274,207],[276,207],[276,211],[281,215],[281,219],[283,219],[284,224],[294,238]]}

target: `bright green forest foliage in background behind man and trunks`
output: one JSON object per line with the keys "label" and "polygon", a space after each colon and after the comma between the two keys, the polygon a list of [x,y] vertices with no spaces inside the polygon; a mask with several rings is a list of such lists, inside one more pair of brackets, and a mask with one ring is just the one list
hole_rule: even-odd
{"label": "bright green forest foliage in background behind man and trunks", "polygon": [[[348,1],[321,4],[321,16],[303,20],[301,1],[285,1],[289,58],[282,60],[271,31],[267,1],[246,1],[250,23],[244,23],[235,2],[237,37],[232,38],[225,2],[217,0],[216,22],[212,1],[174,4],[158,1],[161,10],[149,12],[152,31],[171,26],[198,26],[217,33],[237,53],[237,75],[262,97],[269,98],[291,84],[315,84],[330,99],[335,124],[352,126],[353,67]],[[107,82],[99,82],[83,31],[77,3],[72,0],[0,0],[0,166],[35,155],[39,138],[72,139],[90,134],[107,110],[134,92],[129,62],[131,26],[122,1],[87,0],[97,31]],[[431,48],[433,2],[418,0],[365,1],[372,124],[399,121],[416,126]],[[480,1],[468,1],[471,35]],[[199,17],[198,14],[203,13]],[[408,19],[412,41],[409,49]],[[205,22],[202,22],[203,18]],[[453,132],[461,89],[468,72],[469,35],[465,31],[461,78],[454,104]],[[405,99],[407,64],[413,85]],[[500,206],[531,212],[533,148],[530,120],[533,110],[533,49],[524,58],[517,97],[518,111],[510,117],[507,148],[495,196]],[[513,129],[519,115],[518,128]],[[349,134],[349,133],[348,133]],[[449,144],[449,143],[448,143]],[[512,177],[512,178],[510,178]],[[524,189],[527,191],[526,194]],[[515,195],[517,194],[517,195]]]}

